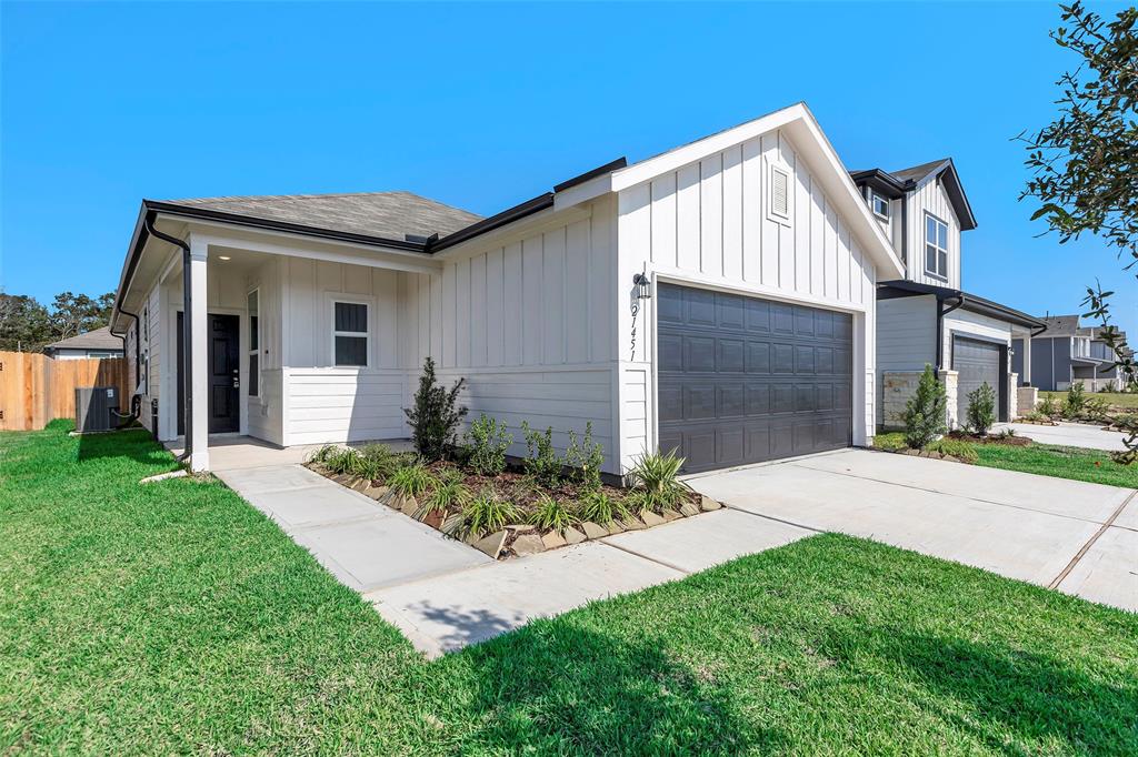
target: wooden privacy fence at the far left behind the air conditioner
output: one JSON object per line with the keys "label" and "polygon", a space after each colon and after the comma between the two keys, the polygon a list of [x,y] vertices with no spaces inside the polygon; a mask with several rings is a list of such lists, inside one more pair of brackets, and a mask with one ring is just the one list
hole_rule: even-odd
{"label": "wooden privacy fence at the far left behind the air conditioner", "polygon": [[117,386],[118,410],[130,409],[125,358],[0,352],[0,431],[36,431],[55,418],[74,418],[75,389],[83,386]]}

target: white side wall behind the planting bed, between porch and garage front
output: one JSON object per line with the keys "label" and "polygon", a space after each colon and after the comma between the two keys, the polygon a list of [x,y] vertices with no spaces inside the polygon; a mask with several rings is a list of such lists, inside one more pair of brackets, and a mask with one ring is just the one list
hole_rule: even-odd
{"label": "white side wall behind the planting bed, between porch and garage front", "polygon": [[468,423],[480,414],[506,424],[511,455],[526,454],[521,423],[569,432],[592,423],[613,469],[611,202],[558,222],[470,246],[439,275],[398,275],[398,364],[406,401],[428,355],[440,378],[465,378]]}

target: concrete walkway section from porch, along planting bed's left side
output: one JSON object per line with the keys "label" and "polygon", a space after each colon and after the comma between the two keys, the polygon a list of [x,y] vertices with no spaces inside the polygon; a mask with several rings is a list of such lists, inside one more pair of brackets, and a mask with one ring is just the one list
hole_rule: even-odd
{"label": "concrete walkway section from porch, along planting bed's left side", "polygon": [[493,561],[299,465],[237,468],[216,475],[356,591]]}

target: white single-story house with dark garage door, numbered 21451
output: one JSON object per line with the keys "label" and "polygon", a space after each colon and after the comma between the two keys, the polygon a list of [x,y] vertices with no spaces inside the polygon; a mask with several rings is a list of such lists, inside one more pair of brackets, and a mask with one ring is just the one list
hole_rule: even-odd
{"label": "white single-story house with dark garage door, numbered 21451", "polygon": [[701,471],[868,443],[877,283],[905,273],[795,105],[489,218],[403,192],[147,200],[113,328],[195,469],[215,433],[405,438],[432,356],[475,417],[562,447],[591,422],[615,474],[657,448]]}

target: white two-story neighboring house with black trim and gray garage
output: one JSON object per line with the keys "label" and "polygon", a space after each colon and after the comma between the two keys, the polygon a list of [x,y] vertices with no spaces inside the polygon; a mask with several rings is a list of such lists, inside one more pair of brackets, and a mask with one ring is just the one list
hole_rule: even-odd
{"label": "white two-story neighboring house with black trim and gray garage", "polygon": [[850,176],[905,267],[904,276],[877,282],[877,423],[899,425],[925,365],[949,390],[950,425],[960,425],[968,392],[983,383],[997,392],[999,418],[1015,416],[1012,343],[1041,324],[960,291],[960,233],[976,221],[953,160]]}

